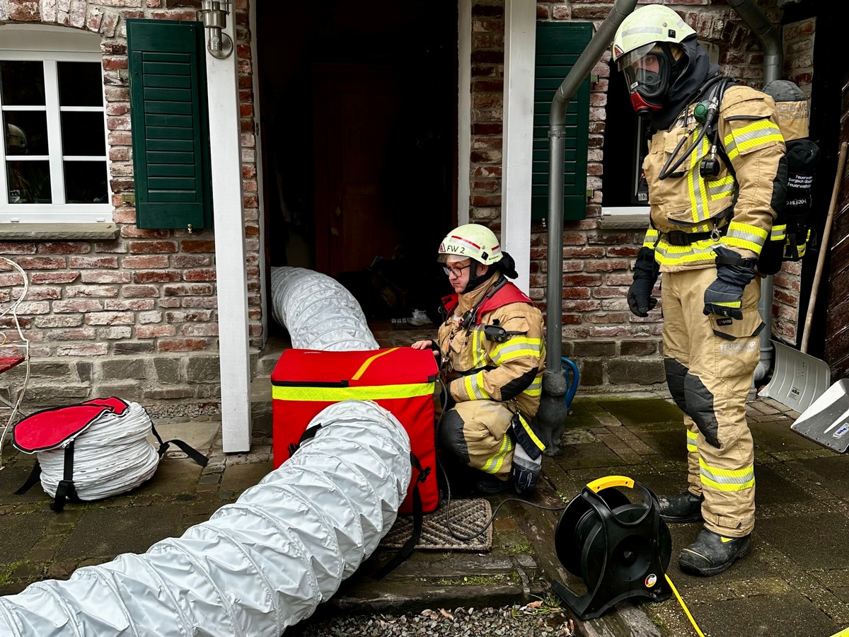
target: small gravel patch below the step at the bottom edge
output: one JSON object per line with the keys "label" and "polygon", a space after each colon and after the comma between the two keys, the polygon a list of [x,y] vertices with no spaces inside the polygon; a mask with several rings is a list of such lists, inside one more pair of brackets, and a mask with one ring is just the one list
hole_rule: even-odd
{"label": "small gravel patch below the step at the bottom edge", "polygon": [[559,606],[535,601],[527,606],[425,610],[408,615],[312,617],[284,637],[573,637],[575,625]]}

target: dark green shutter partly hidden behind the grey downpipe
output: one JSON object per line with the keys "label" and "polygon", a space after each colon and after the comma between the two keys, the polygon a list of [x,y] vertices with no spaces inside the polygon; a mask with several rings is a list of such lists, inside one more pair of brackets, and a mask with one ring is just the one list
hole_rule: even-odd
{"label": "dark green shutter partly hidden behind the grey downpipe", "polygon": [[[537,22],[534,76],[533,177],[531,218],[548,217],[548,114],[551,100],[593,37],[588,22]],[[582,82],[566,109],[563,218],[587,216],[587,150],[589,138],[589,78]]]}

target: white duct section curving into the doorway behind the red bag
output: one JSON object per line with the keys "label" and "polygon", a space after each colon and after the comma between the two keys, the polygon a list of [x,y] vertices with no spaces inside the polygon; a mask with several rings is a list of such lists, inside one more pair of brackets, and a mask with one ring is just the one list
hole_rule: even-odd
{"label": "white duct section curving into the doorway behind the red bag", "polygon": [[363,308],[345,286],[305,268],[271,268],[272,312],[297,349],[378,349]]}

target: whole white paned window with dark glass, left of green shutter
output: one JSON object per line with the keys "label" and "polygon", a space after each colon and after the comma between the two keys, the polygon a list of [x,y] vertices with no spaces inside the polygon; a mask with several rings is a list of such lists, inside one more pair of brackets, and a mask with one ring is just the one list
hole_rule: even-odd
{"label": "whole white paned window with dark glass, left of green shutter", "polygon": [[57,35],[0,29],[0,225],[112,221],[99,38]]}

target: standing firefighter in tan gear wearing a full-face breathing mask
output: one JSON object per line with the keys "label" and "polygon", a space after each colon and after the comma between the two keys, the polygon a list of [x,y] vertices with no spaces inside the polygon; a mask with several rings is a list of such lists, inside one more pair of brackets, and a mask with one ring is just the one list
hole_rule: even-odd
{"label": "standing firefighter in tan gear wearing a full-face breathing mask", "polygon": [[704,521],[679,563],[714,575],[749,552],[755,523],[745,402],[763,329],[756,262],[784,204],[784,139],[773,99],[720,76],[670,8],[628,15],[613,59],[653,132],[643,165],[651,226],[628,305],[647,316],[663,273],[666,381],[687,428],[689,488],[661,497],[661,516]]}

